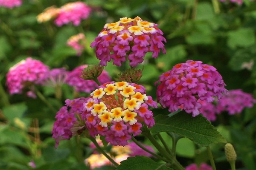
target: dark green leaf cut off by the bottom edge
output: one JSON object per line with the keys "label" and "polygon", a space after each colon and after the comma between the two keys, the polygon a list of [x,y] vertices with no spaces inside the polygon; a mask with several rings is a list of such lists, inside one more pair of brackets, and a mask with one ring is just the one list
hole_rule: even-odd
{"label": "dark green leaf cut off by the bottom edge", "polygon": [[173,170],[170,167],[166,167],[166,165],[157,163],[145,156],[135,156],[121,161],[116,170]]}

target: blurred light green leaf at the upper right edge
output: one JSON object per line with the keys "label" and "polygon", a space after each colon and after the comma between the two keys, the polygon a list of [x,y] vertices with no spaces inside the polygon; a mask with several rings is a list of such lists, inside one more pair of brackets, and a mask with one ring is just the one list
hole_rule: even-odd
{"label": "blurred light green leaf at the upper right edge", "polygon": [[240,28],[228,33],[227,45],[230,48],[248,47],[256,43],[252,28]]}

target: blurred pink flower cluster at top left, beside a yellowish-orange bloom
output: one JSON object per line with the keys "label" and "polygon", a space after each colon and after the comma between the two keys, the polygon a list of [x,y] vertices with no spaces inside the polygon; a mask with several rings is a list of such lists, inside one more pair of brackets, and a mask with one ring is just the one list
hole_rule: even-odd
{"label": "blurred pink flower cluster at top left, beside a yellowish-orange bloom", "polygon": [[89,17],[90,11],[91,8],[83,2],[67,3],[60,8],[55,24],[62,26],[67,23],[73,23],[74,26],[79,26],[81,20]]}

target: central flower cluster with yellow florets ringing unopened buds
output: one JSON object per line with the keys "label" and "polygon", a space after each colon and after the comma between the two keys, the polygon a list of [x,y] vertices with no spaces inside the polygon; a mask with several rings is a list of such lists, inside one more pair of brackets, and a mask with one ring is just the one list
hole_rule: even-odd
{"label": "central flower cluster with yellow florets ringing unopened buds", "polygon": [[128,144],[131,135],[137,136],[141,127],[154,125],[153,113],[157,102],[145,94],[145,88],[128,82],[108,82],[91,93],[84,103],[83,117],[90,136],[105,136],[112,145]]}

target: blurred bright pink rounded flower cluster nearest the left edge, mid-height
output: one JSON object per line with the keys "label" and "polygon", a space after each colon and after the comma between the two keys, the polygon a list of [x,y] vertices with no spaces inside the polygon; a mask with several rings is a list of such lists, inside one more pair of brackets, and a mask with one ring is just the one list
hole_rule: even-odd
{"label": "blurred bright pink rounded flower cluster nearest the left edge, mid-height", "polygon": [[42,85],[47,79],[49,68],[39,60],[26,58],[20,61],[6,75],[6,85],[10,94],[21,94],[27,88],[27,96],[35,98],[34,85]]}

